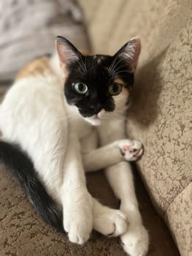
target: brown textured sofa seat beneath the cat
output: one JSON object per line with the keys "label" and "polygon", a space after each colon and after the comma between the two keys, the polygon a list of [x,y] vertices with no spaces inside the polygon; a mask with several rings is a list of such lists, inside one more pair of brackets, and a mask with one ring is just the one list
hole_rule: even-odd
{"label": "brown textured sofa seat beneath the cat", "polygon": [[[147,256],[179,256],[164,223],[155,214],[139,177],[136,176],[137,196],[147,230],[150,249]],[[99,184],[99,186],[98,186]],[[0,255],[14,256],[125,256],[118,238],[104,238],[93,233],[83,246],[69,242],[42,222],[18,184],[0,165]],[[103,173],[88,176],[91,193],[114,208],[118,207]]]}

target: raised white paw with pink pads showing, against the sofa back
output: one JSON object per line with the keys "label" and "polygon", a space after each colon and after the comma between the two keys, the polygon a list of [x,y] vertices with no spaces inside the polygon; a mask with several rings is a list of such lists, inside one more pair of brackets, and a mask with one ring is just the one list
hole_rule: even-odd
{"label": "raised white paw with pink pads showing, against the sofa back", "polygon": [[118,140],[118,146],[126,161],[135,161],[143,153],[143,146],[139,140]]}

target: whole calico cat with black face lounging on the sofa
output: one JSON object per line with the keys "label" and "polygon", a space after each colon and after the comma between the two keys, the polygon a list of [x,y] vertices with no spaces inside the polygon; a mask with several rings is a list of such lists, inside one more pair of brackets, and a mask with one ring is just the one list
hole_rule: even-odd
{"label": "whole calico cat with black face lounging on the sofa", "polygon": [[[131,39],[114,56],[84,56],[64,37],[56,53],[24,67],[0,106],[0,159],[36,211],[69,240],[91,230],[120,236],[131,256],[146,255],[129,161],[142,143],[126,138],[126,110],[140,53]],[[91,197],[85,171],[105,169],[120,210]]]}

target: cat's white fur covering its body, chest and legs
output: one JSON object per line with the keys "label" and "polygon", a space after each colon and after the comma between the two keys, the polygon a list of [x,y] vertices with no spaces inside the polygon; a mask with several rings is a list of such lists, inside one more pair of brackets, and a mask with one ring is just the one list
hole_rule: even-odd
{"label": "cat's white fur covering its body, chest and legs", "polygon": [[[77,108],[66,104],[55,56],[50,64],[55,74],[23,78],[8,91],[0,107],[3,139],[19,143],[34,161],[47,192],[63,207],[70,241],[83,244],[94,228],[104,235],[121,236],[131,256],[145,255],[148,236],[126,162],[142,154],[142,144],[125,136],[126,95],[115,97],[115,113],[101,110],[88,123]],[[120,210],[102,206],[86,188],[85,169],[103,167],[121,200]]]}

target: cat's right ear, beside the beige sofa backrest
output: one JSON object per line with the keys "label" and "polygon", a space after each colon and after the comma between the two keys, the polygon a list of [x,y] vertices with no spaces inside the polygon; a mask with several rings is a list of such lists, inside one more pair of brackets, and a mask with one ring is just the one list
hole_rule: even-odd
{"label": "cat's right ear, beside the beige sofa backrest", "polygon": [[115,54],[118,57],[128,61],[128,71],[134,73],[137,68],[139,54],[141,52],[141,40],[138,37],[130,39],[120,50]]}

